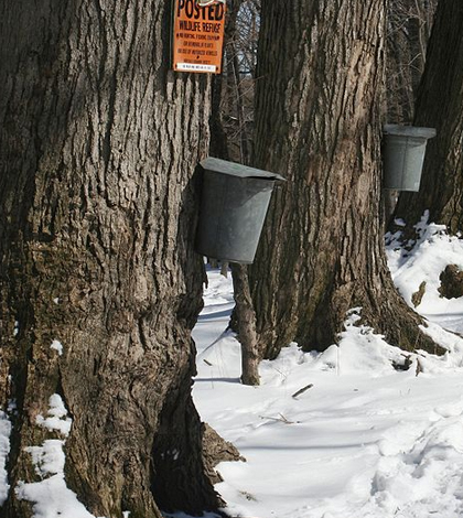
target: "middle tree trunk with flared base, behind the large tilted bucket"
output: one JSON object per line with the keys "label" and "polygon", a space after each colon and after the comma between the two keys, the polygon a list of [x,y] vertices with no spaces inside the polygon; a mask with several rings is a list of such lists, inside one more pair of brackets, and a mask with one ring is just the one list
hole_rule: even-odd
{"label": "middle tree trunk with flared base, behind the large tilted bucket", "polygon": [[261,354],[323,349],[356,306],[390,343],[432,348],[384,255],[384,1],[268,1],[261,22],[255,165],[289,180],[250,268]]}

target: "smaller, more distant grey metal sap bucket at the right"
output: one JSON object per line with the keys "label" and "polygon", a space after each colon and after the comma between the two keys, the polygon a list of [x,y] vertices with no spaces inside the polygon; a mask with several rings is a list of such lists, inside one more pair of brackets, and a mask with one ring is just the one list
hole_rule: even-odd
{"label": "smaller, more distant grey metal sap bucket at the right", "polygon": [[385,125],[384,134],[385,188],[419,191],[426,144],[435,129]]}

